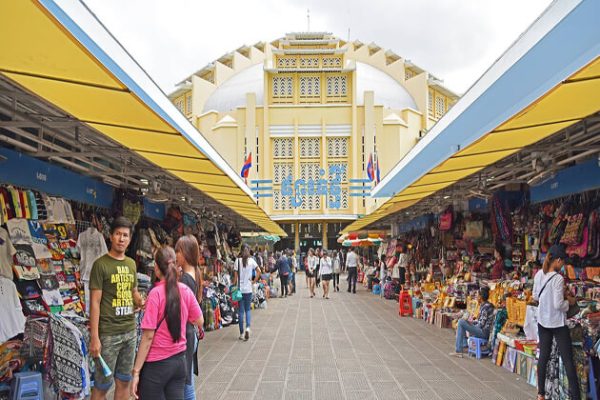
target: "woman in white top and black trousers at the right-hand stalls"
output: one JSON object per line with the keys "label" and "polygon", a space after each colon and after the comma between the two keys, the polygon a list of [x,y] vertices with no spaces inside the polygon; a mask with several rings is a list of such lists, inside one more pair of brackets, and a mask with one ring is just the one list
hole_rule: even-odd
{"label": "woman in white top and black trousers at the right-hand stalls", "polygon": [[575,305],[575,298],[565,291],[565,280],[557,272],[565,264],[567,254],[561,245],[548,250],[544,265],[533,279],[533,299],[539,302],[537,309],[540,358],[538,361],[538,400],[546,394],[546,369],[552,351],[552,339],[556,340],[569,380],[571,399],[581,399],[579,379],[573,362],[573,344],[567,327],[567,311]]}

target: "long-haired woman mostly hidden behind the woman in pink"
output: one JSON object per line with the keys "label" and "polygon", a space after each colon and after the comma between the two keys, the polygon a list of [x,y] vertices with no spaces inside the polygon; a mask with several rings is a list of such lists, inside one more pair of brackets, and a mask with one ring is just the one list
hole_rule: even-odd
{"label": "long-haired woman mostly hidden behind the woman in pink", "polygon": [[[179,238],[175,244],[177,265],[181,268],[179,282],[190,288],[198,304],[202,304],[202,274],[198,266],[200,247],[198,240],[192,235]],[[185,382],[184,400],[195,400],[194,374],[198,375],[198,341],[201,329],[188,322],[185,326],[186,341],[186,366],[187,376]]]}

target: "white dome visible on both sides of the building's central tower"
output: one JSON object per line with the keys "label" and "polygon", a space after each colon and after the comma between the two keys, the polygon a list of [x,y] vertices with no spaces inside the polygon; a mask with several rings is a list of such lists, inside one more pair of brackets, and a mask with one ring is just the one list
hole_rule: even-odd
{"label": "white dome visible on both sides of the building's central tower", "polygon": [[[365,63],[356,62],[357,104],[364,104],[364,92],[375,93],[375,105],[394,110],[417,105],[408,91],[385,72]],[[264,104],[263,64],[256,64],[233,75],[209,96],[203,112],[227,112],[246,104],[246,93],[256,94],[256,105]]]}

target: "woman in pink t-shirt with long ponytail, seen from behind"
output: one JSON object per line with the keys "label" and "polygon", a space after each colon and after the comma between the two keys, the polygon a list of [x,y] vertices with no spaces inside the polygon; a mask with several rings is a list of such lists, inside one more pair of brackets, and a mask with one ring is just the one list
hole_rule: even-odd
{"label": "woman in pink t-shirt with long ponytail, seen from behind", "polygon": [[[178,282],[177,256],[163,247],[155,256],[159,282],[148,294],[142,339],[132,369],[131,395],[143,400],[183,400],[186,368],[186,323],[204,324],[196,296]],[[129,398],[129,397],[126,397]]]}

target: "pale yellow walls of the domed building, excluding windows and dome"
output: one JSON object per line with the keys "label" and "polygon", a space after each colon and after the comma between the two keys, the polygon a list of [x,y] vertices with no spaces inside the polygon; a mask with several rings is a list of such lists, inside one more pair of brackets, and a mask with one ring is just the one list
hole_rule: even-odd
{"label": "pale yellow walls of the domed building, excluding windows and dome", "polygon": [[[292,65],[294,68],[300,68],[302,57],[308,57],[290,52],[290,49],[302,47],[294,44],[293,35],[287,37],[282,43],[286,44],[283,45],[279,42],[259,43],[254,46],[240,48],[188,78],[187,81],[191,83],[191,89],[179,90],[174,96],[171,96],[174,102],[183,99],[184,113],[196,124],[200,132],[235,171],[241,170],[245,152],[252,152],[253,166],[250,172],[250,180],[272,179],[275,163],[282,161],[273,157],[274,148],[270,129],[274,126],[291,127],[294,157],[287,161],[293,164],[292,173],[296,179],[300,176],[300,165],[303,162],[320,163],[321,168],[327,169],[330,160],[327,155],[329,136],[327,136],[326,130],[329,125],[350,127],[350,137],[347,139],[348,155],[345,159],[335,159],[335,161],[347,163],[349,178],[367,177],[366,166],[369,155],[374,153],[375,150],[379,158],[381,178],[383,178],[417,143],[419,132],[426,131],[437,121],[435,112],[432,117],[428,115],[429,74],[427,72],[417,73],[415,70],[415,76],[406,80],[405,61],[393,53],[379,49],[376,45],[360,46],[357,43],[342,44],[338,41],[326,45],[312,46],[311,48],[337,49],[335,55],[318,55],[318,68],[323,67],[324,60],[327,57],[339,56],[343,58],[342,65],[346,68],[344,71],[314,70],[298,72],[292,69],[281,69],[280,63],[279,73],[275,73],[271,69],[277,68],[279,57],[294,58],[295,61]],[[310,57],[315,58],[315,55],[310,55]],[[381,104],[376,104],[377,94],[374,92],[365,92],[364,104],[356,104],[359,94],[355,90],[355,61],[376,67],[403,85],[415,100],[417,110],[386,109]],[[257,63],[262,63],[265,67],[263,83],[263,101],[265,104],[257,104],[256,94],[249,93],[246,94],[243,104],[239,104],[234,110],[226,112],[207,110],[208,112],[203,113],[204,104],[220,84],[235,73]],[[290,66],[286,68],[289,69]],[[331,103],[331,99],[327,97],[327,77],[332,75],[347,77],[347,96],[343,99],[337,98],[335,103]],[[293,98],[286,100],[281,97],[273,97],[271,90],[273,84],[271,78],[273,76],[293,78]],[[300,97],[300,77],[306,76],[318,76],[320,78],[320,94],[311,98],[310,104],[306,104],[307,97]],[[191,114],[186,112],[189,109],[186,108],[185,102],[189,98],[192,99]],[[290,102],[290,104],[282,104],[285,101]],[[453,101],[455,99],[447,97],[446,108],[449,108]],[[320,132],[321,143],[319,159],[299,158],[299,146],[302,141],[299,130],[306,129],[306,125],[320,127],[320,130],[317,128]],[[376,143],[374,143],[375,141]],[[279,185],[275,186],[279,188]],[[348,186],[348,182],[342,184],[344,190],[348,190]],[[322,197],[321,208],[318,210],[274,210],[274,201],[274,198],[264,198],[259,201],[259,204],[269,215],[289,216],[291,219],[294,215],[366,214],[377,207],[378,203],[381,204],[383,199],[377,201],[366,199],[363,201],[359,197],[348,197],[348,207],[339,210],[327,210],[325,196]],[[363,203],[366,207],[363,206]]]}

